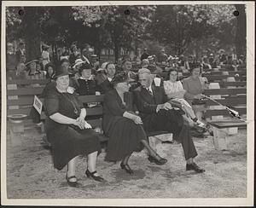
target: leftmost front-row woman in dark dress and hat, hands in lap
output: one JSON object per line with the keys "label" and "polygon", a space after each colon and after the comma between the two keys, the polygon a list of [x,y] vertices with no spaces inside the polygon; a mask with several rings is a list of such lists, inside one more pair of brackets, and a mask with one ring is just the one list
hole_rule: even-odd
{"label": "leftmost front-row woman in dark dress and hat, hands in lap", "polygon": [[54,166],[61,170],[67,165],[67,183],[76,187],[75,161],[77,156],[88,155],[86,176],[102,182],[96,172],[96,157],[100,142],[94,130],[84,118],[85,108],[78,97],[69,90],[68,72],[55,72],[55,88],[50,88],[44,99],[46,136],[51,144]]}

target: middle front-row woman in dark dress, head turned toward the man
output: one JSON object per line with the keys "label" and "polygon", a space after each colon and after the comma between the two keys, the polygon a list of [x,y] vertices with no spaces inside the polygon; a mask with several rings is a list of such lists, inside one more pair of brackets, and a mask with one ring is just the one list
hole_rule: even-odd
{"label": "middle front-row woman in dark dress, head turned toward the man", "polygon": [[127,72],[119,72],[113,78],[113,90],[104,96],[102,128],[109,137],[106,160],[122,160],[121,168],[133,174],[128,159],[143,147],[148,149],[149,159],[155,164],[164,165],[167,160],[160,158],[149,146],[142,119],[131,111],[133,102],[128,80]]}

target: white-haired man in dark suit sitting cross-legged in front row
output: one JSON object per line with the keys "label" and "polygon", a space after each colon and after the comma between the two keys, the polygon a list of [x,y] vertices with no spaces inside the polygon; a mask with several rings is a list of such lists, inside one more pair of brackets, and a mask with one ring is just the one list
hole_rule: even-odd
{"label": "white-haired man in dark suit sitting cross-legged in front row", "polygon": [[140,69],[138,77],[141,86],[133,92],[139,115],[143,120],[143,128],[148,132],[166,130],[172,133],[173,139],[182,143],[187,161],[186,170],[204,172],[205,170],[193,161],[197,152],[190,135],[189,124],[183,120],[183,112],[172,108],[162,87],[152,85],[153,78],[148,69]]}

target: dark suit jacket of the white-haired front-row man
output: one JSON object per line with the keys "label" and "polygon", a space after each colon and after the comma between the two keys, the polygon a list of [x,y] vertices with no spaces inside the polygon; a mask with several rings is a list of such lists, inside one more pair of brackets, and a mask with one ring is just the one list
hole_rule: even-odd
{"label": "dark suit jacket of the white-haired front-row man", "polygon": [[133,91],[134,102],[143,122],[150,118],[152,114],[156,113],[157,105],[167,101],[167,96],[163,87],[152,85],[151,88],[153,95],[150,95],[148,90],[144,89],[142,86]]}

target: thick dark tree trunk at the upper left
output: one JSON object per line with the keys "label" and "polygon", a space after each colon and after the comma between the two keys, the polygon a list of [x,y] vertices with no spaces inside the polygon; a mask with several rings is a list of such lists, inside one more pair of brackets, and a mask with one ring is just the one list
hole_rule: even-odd
{"label": "thick dark tree trunk at the upper left", "polygon": [[38,59],[40,51],[40,26],[38,23],[38,8],[25,7],[22,24],[24,26],[26,61]]}

